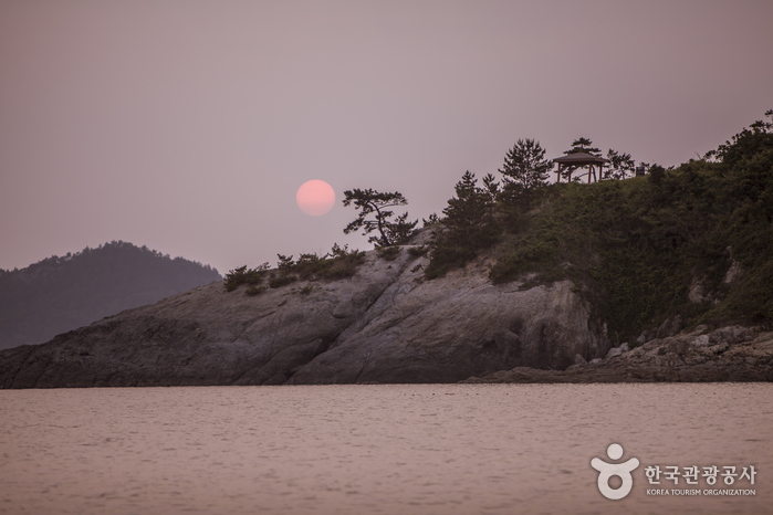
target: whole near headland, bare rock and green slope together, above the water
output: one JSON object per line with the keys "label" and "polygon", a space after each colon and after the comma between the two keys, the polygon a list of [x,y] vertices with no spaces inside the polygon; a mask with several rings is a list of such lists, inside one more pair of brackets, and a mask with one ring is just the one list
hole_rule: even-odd
{"label": "whole near headland, bare rock and green slope together, above the water", "polygon": [[492,179],[401,244],[280,255],[1,351],[0,388],[773,380],[773,124],[646,177]]}

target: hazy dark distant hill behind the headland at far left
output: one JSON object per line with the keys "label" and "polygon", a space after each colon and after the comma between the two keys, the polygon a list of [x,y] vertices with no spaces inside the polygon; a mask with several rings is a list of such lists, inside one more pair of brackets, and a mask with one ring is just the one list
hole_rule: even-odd
{"label": "hazy dark distant hill behind the headland at far left", "polygon": [[22,270],[0,269],[0,349],[48,341],[221,278],[211,266],[123,241]]}

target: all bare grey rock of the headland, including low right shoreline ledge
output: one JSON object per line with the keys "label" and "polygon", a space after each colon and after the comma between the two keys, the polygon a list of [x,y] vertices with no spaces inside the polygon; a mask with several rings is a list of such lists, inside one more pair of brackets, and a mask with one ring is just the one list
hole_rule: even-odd
{"label": "all bare grey rock of the headland, including low right shoreline ledge", "polygon": [[0,388],[773,379],[773,333],[702,326],[610,348],[571,281],[492,284],[487,256],[425,280],[411,250],[428,235],[354,266],[244,271],[2,350]]}

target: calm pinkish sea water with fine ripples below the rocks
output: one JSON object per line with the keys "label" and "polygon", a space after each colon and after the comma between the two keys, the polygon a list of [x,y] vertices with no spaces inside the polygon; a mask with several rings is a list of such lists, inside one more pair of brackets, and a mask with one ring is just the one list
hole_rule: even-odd
{"label": "calm pinkish sea water with fine ripples below the rocks", "polygon": [[[594,456],[640,465],[603,497]],[[648,465],[755,484],[649,486]],[[612,486],[617,480],[613,480]],[[619,483],[618,483],[619,484]],[[651,488],[754,496],[655,496]],[[397,385],[0,391],[0,513],[771,513],[773,386]]]}

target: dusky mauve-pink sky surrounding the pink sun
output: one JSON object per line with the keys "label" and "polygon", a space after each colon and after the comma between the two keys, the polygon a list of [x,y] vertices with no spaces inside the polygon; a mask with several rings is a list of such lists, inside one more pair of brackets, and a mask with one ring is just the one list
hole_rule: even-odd
{"label": "dusky mauve-pink sky surrounding the pink sun", "polygon": [[[676,166],[773,108],[773,2],[0,0],[0,267],[112,240],[325,253],[344,190],[441,213],[519,138]],[[333,210],[304,214],[300,186]]]}

